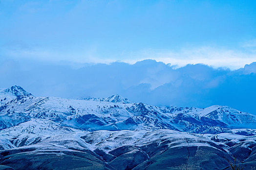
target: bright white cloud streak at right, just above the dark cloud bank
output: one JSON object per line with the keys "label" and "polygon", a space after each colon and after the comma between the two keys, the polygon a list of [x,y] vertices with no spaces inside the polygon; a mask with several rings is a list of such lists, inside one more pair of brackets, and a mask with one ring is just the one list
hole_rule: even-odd
{"label": "bright white cloud streak at right, just above the dark cloud bank", "polygon": [[[159,62],[178,67],[186,66],[187,64],[205,64],[214,68],[226,67],[231,69],[242,68],[248,63],[256,61],[256,53],[214,48],[214,47],[198,47],[186,48],[178,51],[170,50],[144,50],[126,54],[128,58],[154,59]],[[128,63],[134,63],[134,60],[125,60]]]}

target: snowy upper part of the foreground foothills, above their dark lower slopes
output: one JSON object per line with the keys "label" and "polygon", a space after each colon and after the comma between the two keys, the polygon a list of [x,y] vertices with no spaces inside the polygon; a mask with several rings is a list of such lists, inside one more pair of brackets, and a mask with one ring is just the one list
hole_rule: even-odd
{"label": "snowy upper part of the foreground foothills, above their dark lower slopes", "polygon": [[[32,119],[21,123],[20,125],[7,128],[0,131],[0,136],[3,139],[9,139],[12,148],[22,146],[42,146],[49,147],[50,145],[59,146],[60,148],[73,149],[96,149],[106,153],[122,147],[136,146],[142,147],[149,143],[157,143],[161,145],[167,141],[172,147],[187,146],[184,143],[185,138],[191,142],[191,146],[208,146],[207,143],[212,143],[210,135],[201,136],[197,134],[189,134],[186,132],[178,132],[173,130],[157,130],[148,132],[144,130],[138,131],[94,131],[83,132],[81,130],[63,127],[60,123],[55,123],[46,119]],[[237,139],[239,135],[234,135],[233,139]],[[244,136],[243,136],[244,137]],[[80,141],[80,142],[78,142]],[[79,145],[74,145],[74,143]],[[81,146],[83,146],[81,148]]]}

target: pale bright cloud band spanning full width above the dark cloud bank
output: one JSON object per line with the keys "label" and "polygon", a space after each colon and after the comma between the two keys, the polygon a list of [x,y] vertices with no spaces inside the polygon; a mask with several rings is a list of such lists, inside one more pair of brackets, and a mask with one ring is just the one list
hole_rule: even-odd
{"label": "pale bright cloud band spanning full width above the dark cloud bank", "polygon": [[33,59],[56,63],[62,61],[79,64],[110,64],[115,61],[134,64],[137,61],[152,59],[165,64],[171,64],[176,66],[176,68],[184,67],[187,64],[204,64],[214,68],[225,67],[235,70],[256,61],[256,52],[217,47],[184,48],[176,51],[145,49],[141,51],[102,54],[96,45],[80,47],[78,49],[61,49],[60,47],[45,49],[35,44],[12,42],[0,47],[0,50],[2,51],[0,54],[6,58]]}

